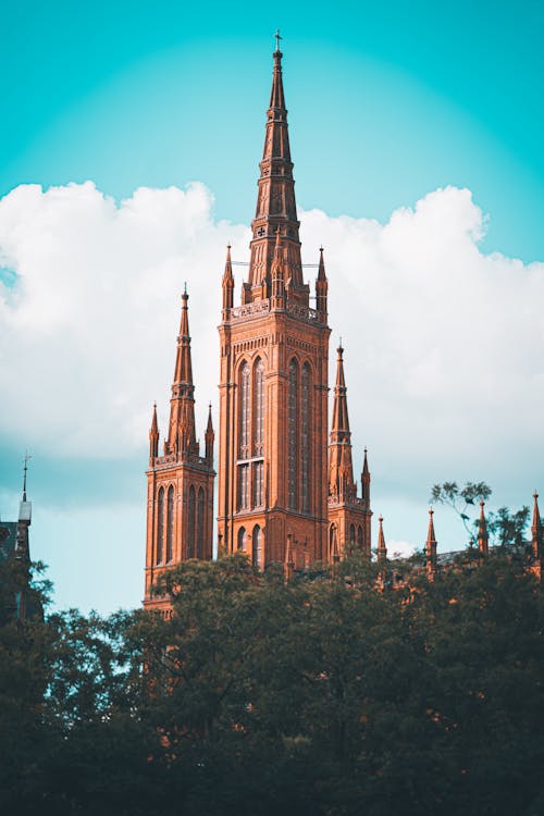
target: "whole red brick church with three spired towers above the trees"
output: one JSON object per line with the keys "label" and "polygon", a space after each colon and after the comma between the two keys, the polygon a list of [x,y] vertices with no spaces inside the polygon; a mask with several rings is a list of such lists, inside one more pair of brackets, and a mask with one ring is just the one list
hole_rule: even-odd
{"label": "whole red brick church with three spired towers above the trees", "polygon": [[[329,284],[321,249],[311,307],[310,286],[302,276],[279,50],[251,231],[249,271],[239,305],[234,302],[230,247],[222,282],[218,548],[243,551],[261,569],[272,562],[304,569],[316,560],[342,557],[348,547],[370,557],[370,473],[364,456],[359,497],[343,349],[338,349],[330,445],[327,441]],[[213,431],[210,418],[201,458],[195,443],[193,392],[184,295],[164,456],[158,456],[154,415],[150,431],[147,606],[159,603],[149,591],[165,567],[190,557],[211,558]],[[201,527],[195,520],[191,490],[203,496]],[[199,547],[195,536],[200,536]]]}

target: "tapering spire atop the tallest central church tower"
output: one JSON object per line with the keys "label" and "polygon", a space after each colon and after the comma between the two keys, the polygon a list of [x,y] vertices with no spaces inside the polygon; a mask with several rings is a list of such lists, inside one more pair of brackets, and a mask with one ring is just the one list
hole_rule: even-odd
{"label": "tapering spire atop the tallest central church tower", "polygon": [[290,161],[287,110],[283,91],[282,52],[274,51],[274,70],[270,107],[267,112],[267,126],[255,219],[251,223],[254,239],[249,262],[248,283],[244,286],[243,298],[256,300],[268,295],[271,284],[271,267],[274,255],[275,233],[280,227],[285,242],[284,280],[292,281],[289,296],[309,302],[309,289],[304,284],[300,259],[299,221],[295,201],[295,182]]}

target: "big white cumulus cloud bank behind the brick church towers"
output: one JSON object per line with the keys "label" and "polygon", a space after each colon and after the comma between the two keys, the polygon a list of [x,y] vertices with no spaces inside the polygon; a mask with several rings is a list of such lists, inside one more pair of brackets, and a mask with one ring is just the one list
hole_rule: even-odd
{"label": "big white cumulus cloud bank behind the brick church towers", "polygon": [[[301,223],[306,262],[325,246],[354,442],[370,446],[382,485],[536,479],[544,264],[483,255],[485,218],[467,189],[430,193],[386,224],[319,210]],[[228,240],[247,260],[248,227],[217,222],[198,183],[140,188],[121,203],[90,182],[7,195],[0,436],[55,456],[143,450],[153,399],[165,425],[185,281],[203,426],[217,404]]]}

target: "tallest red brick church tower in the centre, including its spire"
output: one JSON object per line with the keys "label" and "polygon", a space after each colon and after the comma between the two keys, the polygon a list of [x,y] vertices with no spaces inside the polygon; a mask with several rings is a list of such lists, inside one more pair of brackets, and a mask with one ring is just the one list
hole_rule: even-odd
{"label": "tallest red brick church tower in the centre, including its spire", "polygon": [[300,569],[327,557],[330,330],[322,252],[316,308],[302,277],[282,55],[277,45],[239,306],[230,247],[223,275],[218,544]]}

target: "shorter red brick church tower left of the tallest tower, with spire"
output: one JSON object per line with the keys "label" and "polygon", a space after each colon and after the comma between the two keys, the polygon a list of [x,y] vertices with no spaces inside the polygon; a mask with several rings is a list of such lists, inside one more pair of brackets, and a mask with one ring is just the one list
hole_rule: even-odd
{"label": "shorter red brick church tower left of the tallest tower, with spire", "polygon": [[161,572],[187,558],[212,557],[213,530],[213,428],[211,406],[206,430],[206,453],[195,432],[195,386],[186,292],[182,295],[182,320],[170,399],[170,423],[162,456],[159,456],[157,406],[149,431],[147,471],[146,608],[168,609],[152,597],[151,586]]}

